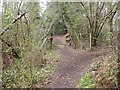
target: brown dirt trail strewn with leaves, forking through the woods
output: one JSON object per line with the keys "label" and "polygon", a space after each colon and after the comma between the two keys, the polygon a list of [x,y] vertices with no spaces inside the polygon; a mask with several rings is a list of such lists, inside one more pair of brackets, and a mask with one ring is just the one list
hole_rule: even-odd
{"label": "brown dirt trail strewn with leaves, forking through the woods", "polygon": [[65,45],[63,36],[56,36],[55,43],[61,52],[61,58],[56,65],[49,88],[76,88],[78,81],[90,66],[92,60],[110,52],[108,48],[99,48],[94,52],[73,50]]}

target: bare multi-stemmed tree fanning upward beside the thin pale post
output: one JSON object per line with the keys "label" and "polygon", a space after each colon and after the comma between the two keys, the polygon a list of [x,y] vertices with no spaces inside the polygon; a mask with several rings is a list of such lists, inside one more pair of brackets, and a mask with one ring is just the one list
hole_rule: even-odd
{"label": "bare multi-stemmed tree fanning upward beside the thin pale post", "polygon": [[110,17],[113,20],[117,10],[117,3],[114,3],[112,9],[105,13],[106,5],[105,2],[89,2],[80,3],[85,10],[85,16],[89,22],[89,32],[91,36],[91,46],[96,46],[98,37],[101,35],[101,31],[105,25],[105,22]]}

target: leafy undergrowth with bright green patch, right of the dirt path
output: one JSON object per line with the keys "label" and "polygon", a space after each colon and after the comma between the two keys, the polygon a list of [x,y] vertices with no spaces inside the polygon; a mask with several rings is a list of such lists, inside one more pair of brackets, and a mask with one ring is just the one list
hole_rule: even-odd
{"label": "leafy undergrowth with bright green patch, right of the dirt path", "polygon": [[91,67],[80,79],[80,88],[116,88],[117,55],[111,53],[94,60]]}

